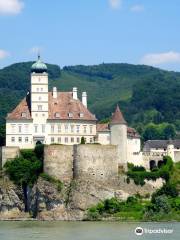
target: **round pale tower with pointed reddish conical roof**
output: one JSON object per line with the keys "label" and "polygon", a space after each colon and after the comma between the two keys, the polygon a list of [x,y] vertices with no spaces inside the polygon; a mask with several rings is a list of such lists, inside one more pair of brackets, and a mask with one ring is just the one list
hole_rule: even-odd
{"label": "round pale tower with pointed reddish conical roof", "polygon": [[118,146],[119,165],[127,164],[127,123],[117,105],[110,122],[111,144]]}

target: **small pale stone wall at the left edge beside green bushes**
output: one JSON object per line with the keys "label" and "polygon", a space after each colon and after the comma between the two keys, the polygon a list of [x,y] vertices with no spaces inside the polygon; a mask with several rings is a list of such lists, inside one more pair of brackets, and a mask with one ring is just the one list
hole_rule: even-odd
{"label": "small pale stone wall at the left edge beside green bushes", "polygon": [[14,159],[20,153],[19,147],[1,147],[0,148],[0,169],[4,166],[7,160]]}

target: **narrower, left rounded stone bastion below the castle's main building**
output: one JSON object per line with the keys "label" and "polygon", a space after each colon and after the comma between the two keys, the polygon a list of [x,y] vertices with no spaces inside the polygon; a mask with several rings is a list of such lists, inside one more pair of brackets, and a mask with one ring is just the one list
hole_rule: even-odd
{"label": "narrower, left rounded stone bastion below the castle's main building", "polygon": [[73,176],[73,146],[49,145],[44,148],[44,172],[62,181]]}

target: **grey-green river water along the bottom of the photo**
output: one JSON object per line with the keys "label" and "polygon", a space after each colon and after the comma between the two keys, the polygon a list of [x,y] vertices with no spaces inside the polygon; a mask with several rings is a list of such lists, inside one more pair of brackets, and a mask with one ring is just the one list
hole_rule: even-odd
{"label": "grey-green river water along the bottom of the photo", "polygon": [[[144,234],[137,236],[136,227]],[[145,233],[147,230],[169,230],[172,233]],[[0,240],[179,240],[180,223],[121,222],[0,222]]]}

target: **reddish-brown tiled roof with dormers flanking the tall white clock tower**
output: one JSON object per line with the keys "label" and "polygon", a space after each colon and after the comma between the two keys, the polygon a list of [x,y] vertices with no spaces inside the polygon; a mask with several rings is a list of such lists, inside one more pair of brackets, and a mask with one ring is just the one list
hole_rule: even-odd
{"label": "reddish-brown tiled roof with dormers flanking the tall white clock tower", "polygon": [[[48,97],[49,120],[59,119],[96,121],[95,115],[93,115],[79,99],[73,99],[72,92],[58,92],[57,98],[53,98],[52,92],[49,92]],[[28,99],[24,98],[18,104],[18,106],[7,115],[7,119],[32,119]]]}

